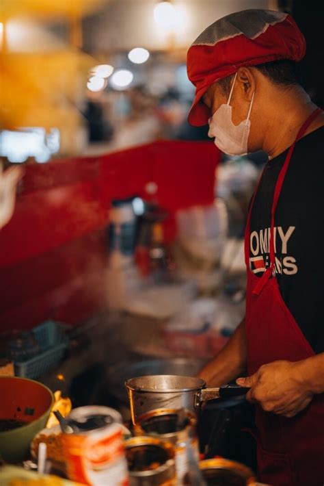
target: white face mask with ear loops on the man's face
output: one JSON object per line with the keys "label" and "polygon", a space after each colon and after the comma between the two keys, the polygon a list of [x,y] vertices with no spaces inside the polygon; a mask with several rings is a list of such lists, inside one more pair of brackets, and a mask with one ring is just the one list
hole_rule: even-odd
{"label": "white face mask with ear loops on the man's face", "polygon": [[252,103],[254,100],[254,93],[252,95],[251,103],[249,104],[249,112],[247,118],[239,125],[234,125],[232,122],[232,107],[230,106],[230,99],[234,88],[237,74],[235,74],[230,96],[226,105],[220,105],[218,110],[209,118],[208,137],[215,137],[215,145],[224,153],[228,155],[245,155],[247,154],[247,140],[249,138],[249,129],[251,122],[249,115],[252,110]]}

